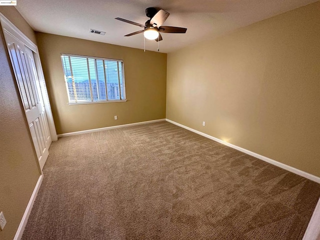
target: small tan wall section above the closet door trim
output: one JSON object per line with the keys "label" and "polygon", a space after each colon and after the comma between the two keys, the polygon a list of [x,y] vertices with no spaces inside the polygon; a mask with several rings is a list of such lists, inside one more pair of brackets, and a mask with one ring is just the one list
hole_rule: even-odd
{"label": "small tan wall section above the closet door trim", "polygon": [[8,18],[20,31],[36,44],[35,34],[31,26],[14,6],[0,6],[0,12]]}

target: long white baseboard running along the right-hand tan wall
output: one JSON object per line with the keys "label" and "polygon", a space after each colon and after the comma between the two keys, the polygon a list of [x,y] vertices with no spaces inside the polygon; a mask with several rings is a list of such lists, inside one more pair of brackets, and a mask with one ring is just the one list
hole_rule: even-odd
{"label": "long white baseboard running along the right-hand tan wall", "polygon": [[168,121],[168,122],[171,122],[171,123],[173,123],[173,124],[175,124],[175,125],[177,125],[177,126],[183,127],[183,128],[185,128],[185,129],[187,129],[187,130],[193,131],[193,132],[195,132],[195,133],[197,133],[197,134],[199,134],[199,135],[205,136],[205,137],[207,137],[207,138],[209,138],[209,139],[212,139],[212,140],[214,140],[214,141],[217,141],[217,142],[219,142],[219,143],[222,143],[222,144],[224,144],[224,145],[227,145],[227,146],[229,146],[229,147],[232,147],[232,148],[234,148],[234,149],[237,149],[237,150],[239,150],[239,151],[242,151],[242,152],[244,152],[244,153],[246,153],[246,154],[248,154],[248,155],[254,156],[254,157],[256,157],[256,158],[258,158],[258,159],[260,159],[260,160],[266,161],[266,162],[271,163],[271,164],[273,164],[273,165],[275,165],[275,166],[281,167],[281,168],[283,168],[283,169],[285,169],[285,170],[291,171],[291,172],[293,172],[293,173],[295,173],[295,174],[298,174],[298,175],[303,176],[303,177],[305,177],[305,178],[308,178],[308,179],[310,179],[310,180],[312,180],[312,181],[315,181],[315,182],[317,182],[317,183],[320,183],[320,177],[318,177],[318,176],[312,175],[312,174],[310,174],[310,173],[307,173],[307,172],[305,172],[305,171],[299,170],[299,169],[294,168],[294,167],[292,167],[292,166],[289,166],[289,165],[286,165],[286,164],[284,164],[284,163],[278,162],[278,161],[273,160],[273,159],[271,159],[271,158],[268,158],[268,157],[266,157],[266,156],[262,156],[262,155],[260,155],[260,154],[258,154],[258,153],[249,151],[249,150],[244,149],[244,148],[242,148],[242,147],[233,145],[233,144],[228,143],[228,142],[226,142],[226,141],[223,141],[223,140],[221,140],[221,139],[219,139],[219,138],[216,138],[216,137],[214,137],[214,136],[210,136],[210,135],[208,135],[208,134],[206,134],[206,133],[203,133],[203,132],[198,131],[198,130],[195,130],[195,129],[191,128],[191,127],[182,125],[182,124],[177,123],[177,122],[175,122],[175,121],[172,121],[172,120],[170,120],[170,119],[165,119],[165,120]]}

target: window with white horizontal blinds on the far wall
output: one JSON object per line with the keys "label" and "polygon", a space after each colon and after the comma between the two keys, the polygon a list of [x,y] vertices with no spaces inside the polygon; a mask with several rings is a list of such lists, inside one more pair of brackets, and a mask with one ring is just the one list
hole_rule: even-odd
{"label": "window with white horizontal blinds on the far wall", "polygon": [[123,61],[61,54],[69,103],[124,101]]}

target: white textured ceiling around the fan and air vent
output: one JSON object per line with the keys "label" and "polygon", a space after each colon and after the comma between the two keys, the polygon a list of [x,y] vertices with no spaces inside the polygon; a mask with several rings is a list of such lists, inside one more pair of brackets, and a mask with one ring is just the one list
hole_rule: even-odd
{"label": "white textured ceiling around the fan and air vent", "polygon": [[[143,49],[141,30],[114,17],[138,23],[148,20],[145,8],[170,13],[163,25],[186,27],[185,34],[162,33],[160,52],[170,52],[197,41],[269,18],[317,0],[18,0],[17,10],[36,31],[72,36]],[[105,31],[105,35],[89,29]],[[157,42],[145,40],[147,50]]]}

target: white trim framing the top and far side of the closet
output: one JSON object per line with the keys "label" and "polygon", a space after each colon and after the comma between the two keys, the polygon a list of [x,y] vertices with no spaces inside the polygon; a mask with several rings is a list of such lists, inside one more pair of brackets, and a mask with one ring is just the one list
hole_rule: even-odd
{"label": "white trim framing the top and far side of the closet", "polygon": [[23,44],[25,44],[27,47],[29,47],[33,51],[34,63],[35,63],[35,67],[36,67],[36,71],[37,71],[37,75],[40,83],[39,84],[40,91],[42,93],[42,100],[44,103],[44,109],[45,109],[45,113],[48,121],[51,140],[56,141],[58,138],[57,138],[56,130],[54,126],[53,115],[52,115],[49,97],[48,97],[46,84],[44,80],[38,47],[27,36],[25,36],[23,32],[21,32],[15,25],[13,25],[1,12],[0,12],[0,22],[1,22],[3,32],[5,31],[11,34],[12,36],[14,36],[15,38],[19,39]]}

